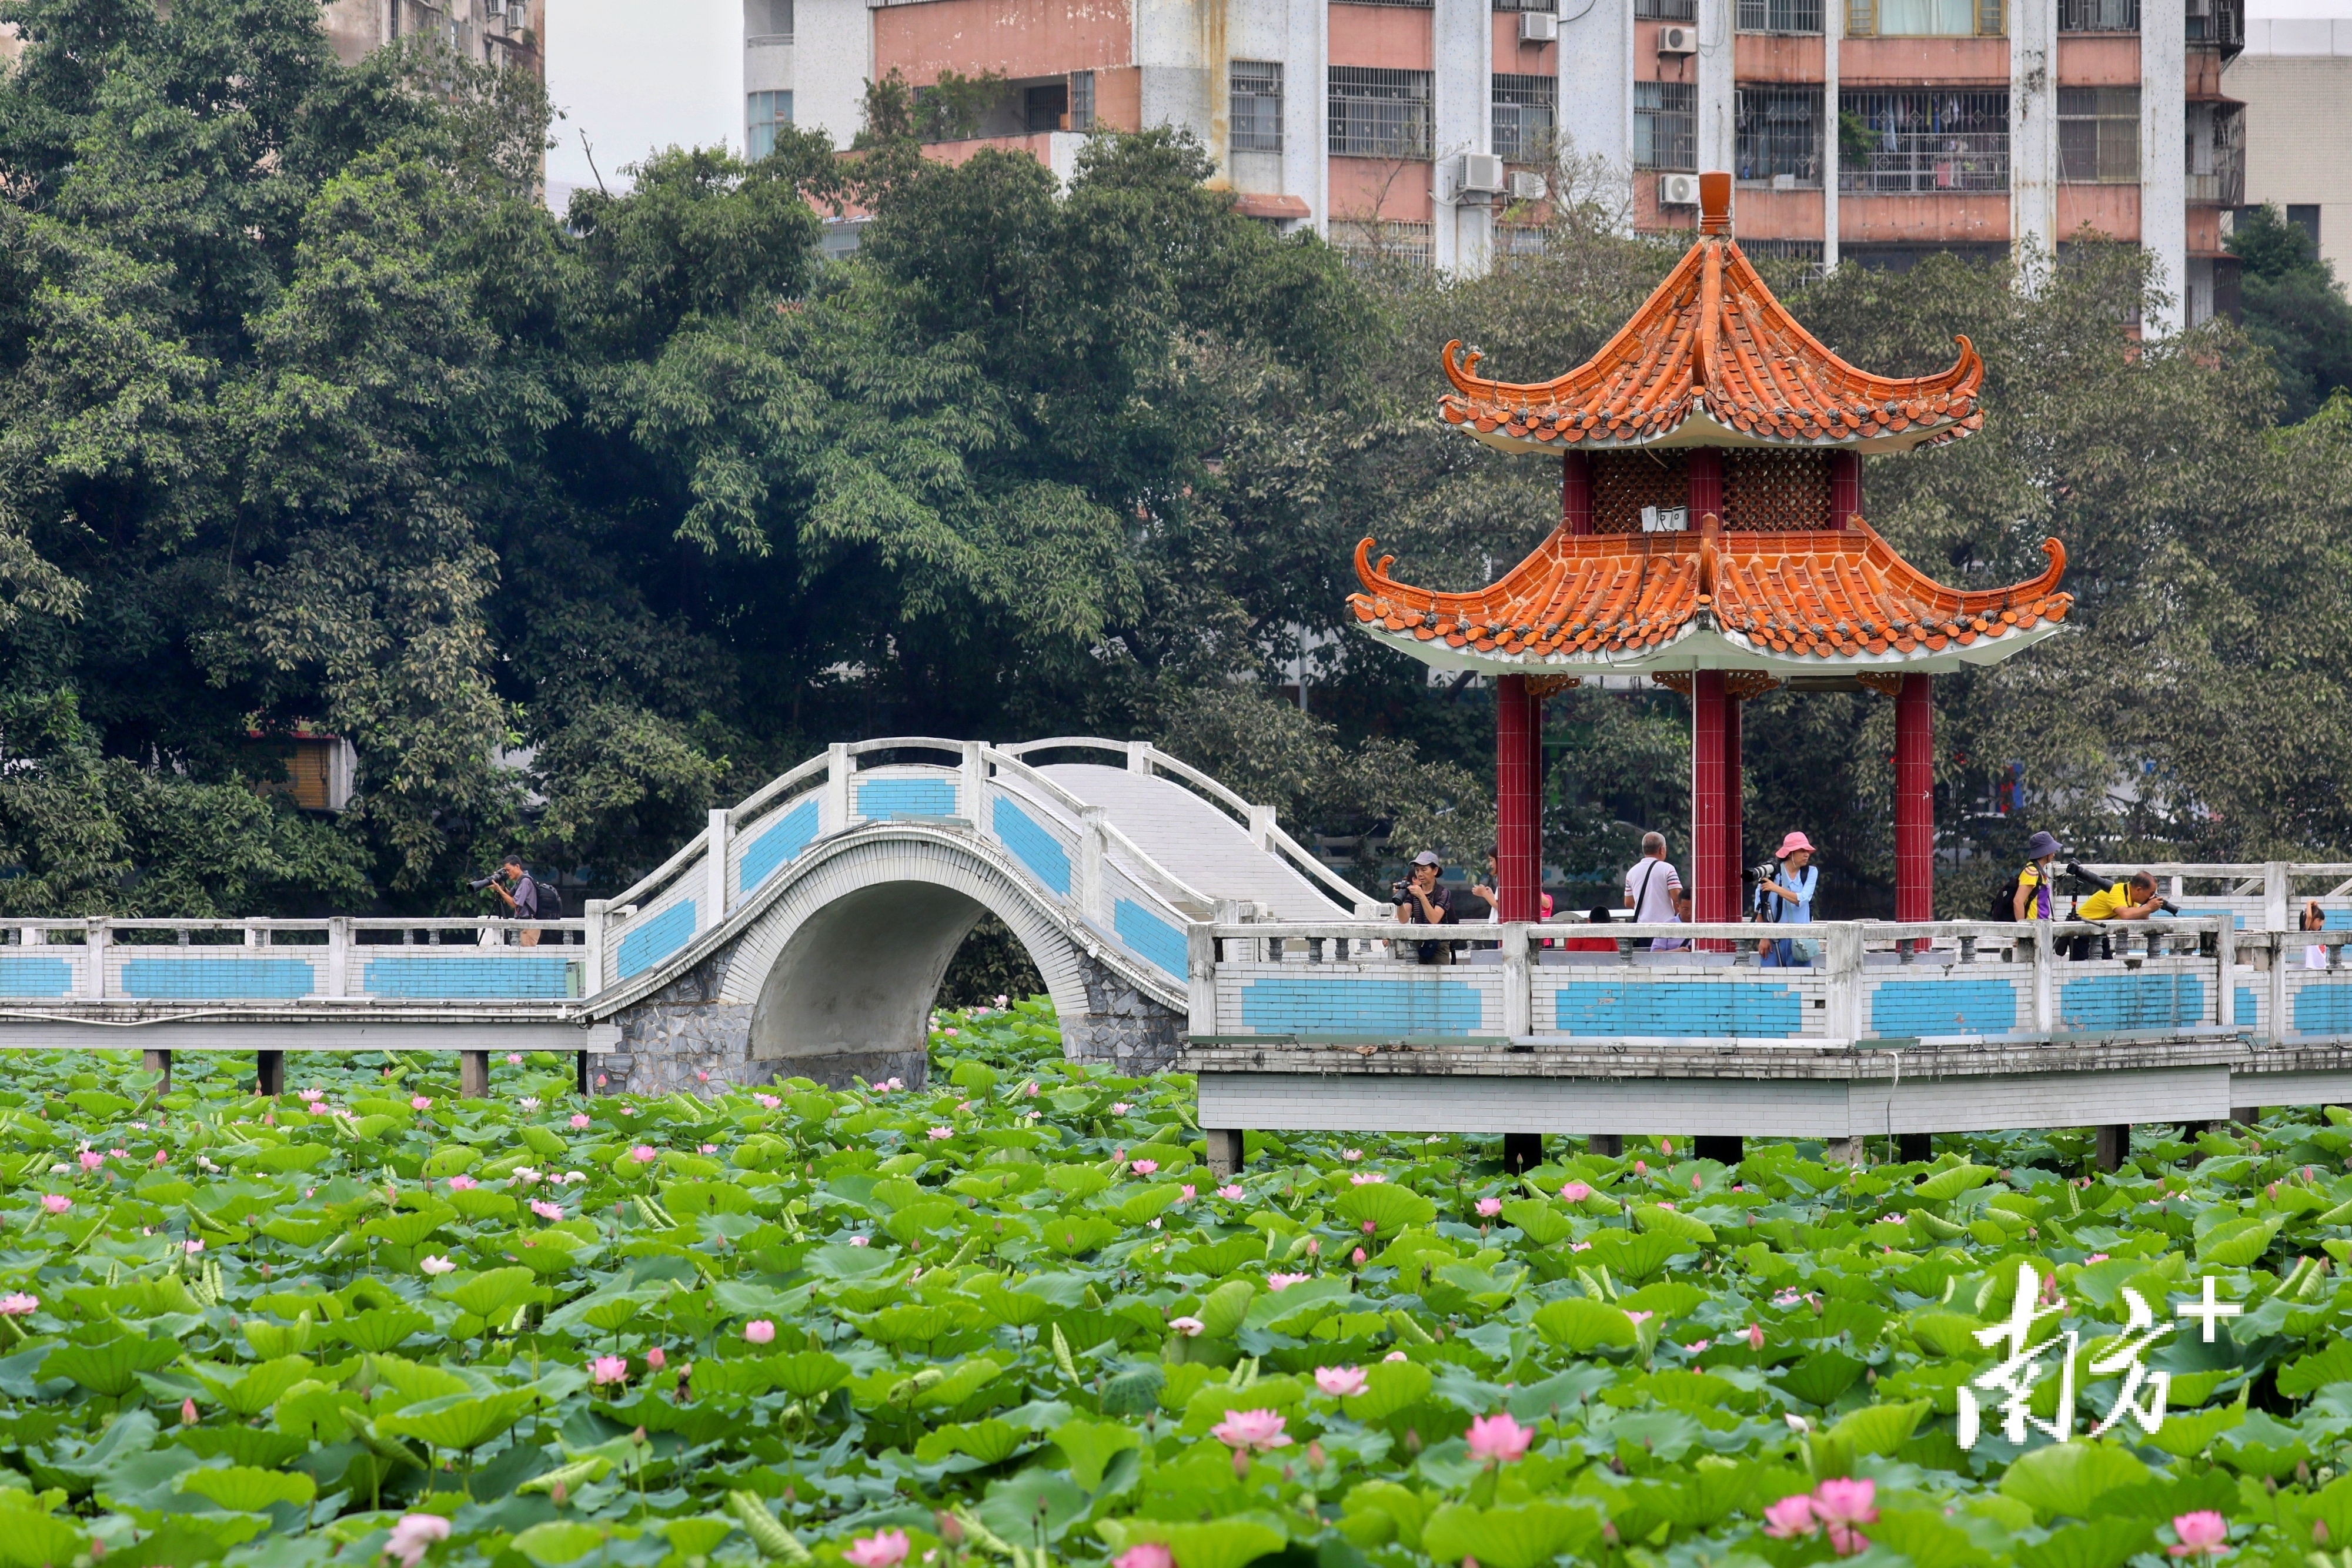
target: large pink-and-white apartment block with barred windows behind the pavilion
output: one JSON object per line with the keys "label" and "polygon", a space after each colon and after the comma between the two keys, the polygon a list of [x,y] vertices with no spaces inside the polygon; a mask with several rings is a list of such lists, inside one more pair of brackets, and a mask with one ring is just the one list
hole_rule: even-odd
{"label": "large pink-and-white apartment block with barred windows behind the pavilion", "polygon": [[1696,174],[1733,169],[1759,254],[2136,240],[2166,329],[2230,299],[2241,40],[2244,0],[746,0],[746,146],[847,146],[894,68],[990,71],[941,155],[1065,174],[1089,129],[1185,125],[1251,216],[1477,270],[1526,242],[1498,219],[1566,136],[1632,179],[1639,228],[1693,228]]}

